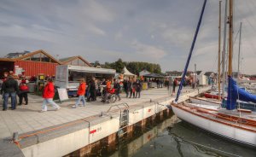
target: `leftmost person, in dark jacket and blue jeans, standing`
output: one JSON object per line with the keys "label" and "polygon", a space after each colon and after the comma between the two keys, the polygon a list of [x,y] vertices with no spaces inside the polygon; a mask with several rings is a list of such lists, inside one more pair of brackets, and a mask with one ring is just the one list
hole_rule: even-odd
{"label": "leftmost person, in dark jacket and blue jeans, standing", "polygon": [[11,109],[16,109],[16,93],[18,92],[19,87],[17,81],[13,76],[9,77],[3,82],[1,93],[3,93],[3,111],[7,110],[8,99],[11,97]]}

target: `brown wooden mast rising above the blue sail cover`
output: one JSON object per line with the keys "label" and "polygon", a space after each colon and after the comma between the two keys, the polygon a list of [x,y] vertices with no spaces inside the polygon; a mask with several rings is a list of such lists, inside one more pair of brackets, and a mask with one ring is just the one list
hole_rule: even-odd
{"label": "brown wooden mast rising above the blue sail cover", "polygon": [[229,69],[228,75],[232,76],[232,55],[233,55],[233,0],[230,0],[230,16],[229,16]]}

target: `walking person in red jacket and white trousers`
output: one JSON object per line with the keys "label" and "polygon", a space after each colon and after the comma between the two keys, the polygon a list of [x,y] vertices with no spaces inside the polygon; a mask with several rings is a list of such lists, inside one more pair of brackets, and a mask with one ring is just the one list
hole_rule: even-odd
{"label": "walking person in red jacket and white trousers", "polygon": [[53,108],[55,108],[55,111],[59,110],[61,107],[57,105],[55,102],[53,102],[53,97],[55,96],[55,86],[53,84],[52,78],[48,78],[47,84],[44,86],[43,91],[43,109],[40,111],[40,113],[44,113],[47,111],[47,104],[51,104]]}

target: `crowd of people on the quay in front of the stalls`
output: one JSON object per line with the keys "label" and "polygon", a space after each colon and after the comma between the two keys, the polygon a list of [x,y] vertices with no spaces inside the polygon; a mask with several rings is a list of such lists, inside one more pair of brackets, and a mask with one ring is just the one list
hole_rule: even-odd
{"label": "crowd of people on the quay in front of the stalls", "polygon": [[[53,101],[55,96],[54,78],[48,76],[45,78],[47,82],[42,91],[43,103],[42,110],[40,111],[42,113],[47,111],[48,104],[52,105],[55,110],[61,108]],[[1,80],[2,84],[0,84],[0,87],[2,87],[0,94],[3,95],[3,111],[7,110],[9,97],[11,98],[12,110],[16,109],[17,104],[22,105],[23,100],[25,101],[24,104],[28,105],[27,94],[29,88],[27,83],[37,81],[37,79],[36,76],[31,77],[29,80],[25,77],[17,77],[12,71],[4,73],[3,79]],[[95,102],[97,96],[102,97],[102,102],[108,102],[108,96],[116,96],[116,99],[120,101],[122,88],[127,98],[140,98],[141,96],[142,83],[137,78],[125,78],[122,82],[117,78],[108,78],[107,80],[103,78],[102,81],[96,78],[90,78],[87,83],[85,78],[81,78],[77,92],[78,100],[73,105],[73,108],[78,108],[80,102],[82,102],[82,106],[85,106],[86,102]]]}

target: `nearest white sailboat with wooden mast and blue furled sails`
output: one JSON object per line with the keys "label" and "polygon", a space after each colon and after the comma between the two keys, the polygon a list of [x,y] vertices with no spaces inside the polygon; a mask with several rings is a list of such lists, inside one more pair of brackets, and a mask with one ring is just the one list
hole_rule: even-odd
{"label": "nearest white sailboat with wooden mast and blue furled sails", "polygon": [[[201,26],[201,19],[205,10],[207,0],[204,1],[201,9],[200,20],[198,22],[193,43],[189,51],[189,57],[186,62],[184,72],[189,67],[189,61],[195,46],[197,34]],[[236,109],[236,100],[244,102],[256,102],[256,96],[241,90],[232,78],[232,31],[233,31],[233,0],[230,0],[229,15],[229,71],[228,71],[228,97],[226,108],[209,108],[204,104],[193,104],[190,102],[178,102],[178,97],[183,88],[179,86],[177,97],[171,103],[173,112],[179,119],[196,125],[201,129],[210,131],[218,136],[229,138],[232,141],[245,143],[256,147],[256,113]],[[184,76],[183,76],[184,78]],[[182,82],[183,82],[182,78]]]}

